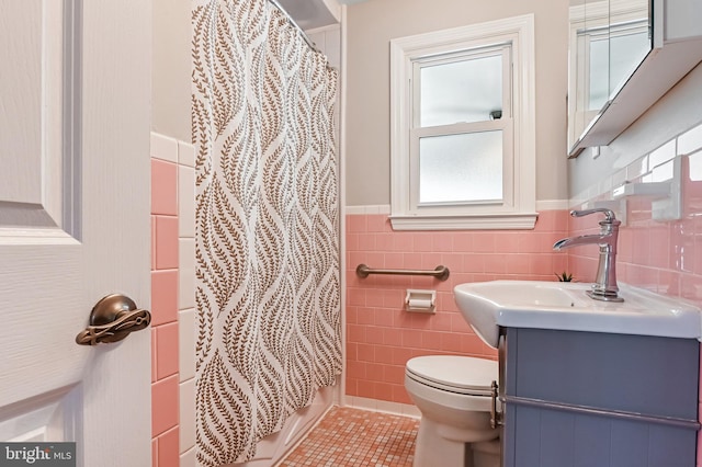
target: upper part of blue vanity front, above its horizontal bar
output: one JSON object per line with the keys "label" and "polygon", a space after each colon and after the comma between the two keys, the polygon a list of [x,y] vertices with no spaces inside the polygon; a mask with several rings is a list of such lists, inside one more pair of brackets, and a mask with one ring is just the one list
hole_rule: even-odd
{"label": "upper part of blue vanity front, above its horizontal bar", "polygon": [[508,344],[510,396],[697,420],[695,340],[510,329]]}

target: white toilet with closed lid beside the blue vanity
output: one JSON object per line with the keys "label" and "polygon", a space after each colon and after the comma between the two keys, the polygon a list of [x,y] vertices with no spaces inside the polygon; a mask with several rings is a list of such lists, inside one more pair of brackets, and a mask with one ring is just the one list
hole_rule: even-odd
{"label": "white toilet with closed lid beside the blue vanity", "polygon": [[405,388],[421,420],[414,467],[499,467],[499,429],[490,428],[490,384],[498,363],[429,355],[410,358]]}

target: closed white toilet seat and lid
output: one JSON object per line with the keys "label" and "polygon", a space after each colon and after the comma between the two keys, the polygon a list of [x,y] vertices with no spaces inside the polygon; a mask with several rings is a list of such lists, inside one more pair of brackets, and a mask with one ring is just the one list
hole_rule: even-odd
{"label": "closed white toilet seat and lid", "polygon": [[468,396],[491,395],[498,378],[498,363],[487,358],[457,355],[428,355],[410,358],[406,375],[417,383]]}

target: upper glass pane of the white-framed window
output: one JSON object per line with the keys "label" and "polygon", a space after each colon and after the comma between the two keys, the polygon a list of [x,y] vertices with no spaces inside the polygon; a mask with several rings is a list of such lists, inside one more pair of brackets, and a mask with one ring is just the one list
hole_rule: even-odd
{"label": "upper glass pane of the white-framed window", "polygon": [[483,122],[502,109],[499,54],[423,65],[420,70],[421,127]]}

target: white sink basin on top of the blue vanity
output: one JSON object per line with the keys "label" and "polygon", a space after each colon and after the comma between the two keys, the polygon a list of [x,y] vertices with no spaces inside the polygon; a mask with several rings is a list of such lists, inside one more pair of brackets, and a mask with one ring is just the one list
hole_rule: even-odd
{"label": "white sink basin on top of the blue vanity", "polygon": [[701,310],[620,284],[623,303],[593,300],[590,284],[491,281],[454,287],[458,309],[486,344],[497,348],[499,327],[700,339]]}

